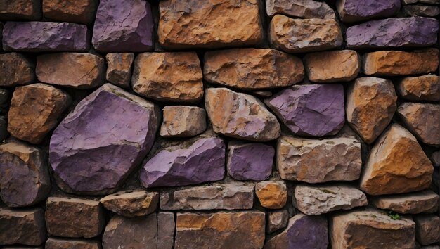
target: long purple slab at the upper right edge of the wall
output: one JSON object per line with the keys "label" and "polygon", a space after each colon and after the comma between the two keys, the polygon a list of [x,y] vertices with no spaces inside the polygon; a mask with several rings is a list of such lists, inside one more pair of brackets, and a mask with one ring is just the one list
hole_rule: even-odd
{"label": "long purple slab at the upper right edge of the wall", "polygon": [[349,48],[432,46],[437,42],[439,21],[434,18],[373,20],[347,29]]}

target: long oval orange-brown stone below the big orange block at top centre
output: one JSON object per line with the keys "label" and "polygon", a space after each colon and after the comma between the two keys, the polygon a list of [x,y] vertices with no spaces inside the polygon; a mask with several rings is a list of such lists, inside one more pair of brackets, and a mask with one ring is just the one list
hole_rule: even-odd
{"label": "long oval orange-brown stone below the big orange block at top centre", "polygon": [[296,56],[275,49],[228,49],[205,53],[203,77],[238,89],[287,87],[302,81],[304,66]]}

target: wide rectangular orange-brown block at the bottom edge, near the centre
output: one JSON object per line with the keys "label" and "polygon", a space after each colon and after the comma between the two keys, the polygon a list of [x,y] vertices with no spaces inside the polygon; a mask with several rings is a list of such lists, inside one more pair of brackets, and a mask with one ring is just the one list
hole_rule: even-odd
{"label": "wide rectangular orange-brown block at the bottom edge, near the centre", "polygon": [[259,211],[177,213],[174,248],[262,248],[264,223]]}

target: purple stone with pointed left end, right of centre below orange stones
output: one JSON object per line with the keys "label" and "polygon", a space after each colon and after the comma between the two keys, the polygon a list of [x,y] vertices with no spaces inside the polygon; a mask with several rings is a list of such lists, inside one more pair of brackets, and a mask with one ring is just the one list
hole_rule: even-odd
{"label": "purple stone with pointed left end, right of centre below orange stones", "polygon": [[335,135],[344,126],[344,87],[340,84],[293,86],[265,103],[299,136]]}

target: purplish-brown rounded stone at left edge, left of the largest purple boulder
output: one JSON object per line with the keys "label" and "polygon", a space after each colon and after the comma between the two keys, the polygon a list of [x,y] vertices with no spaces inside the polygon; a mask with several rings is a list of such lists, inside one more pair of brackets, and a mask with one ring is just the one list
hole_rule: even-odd
{"label": "purplish-brown rounded stone at left edge, left of the largest purple boulder", "polygon": [[0,145],[0,196],[6,205],[34,205],[50,190],[46,158],[39,148],[18,141]]}

